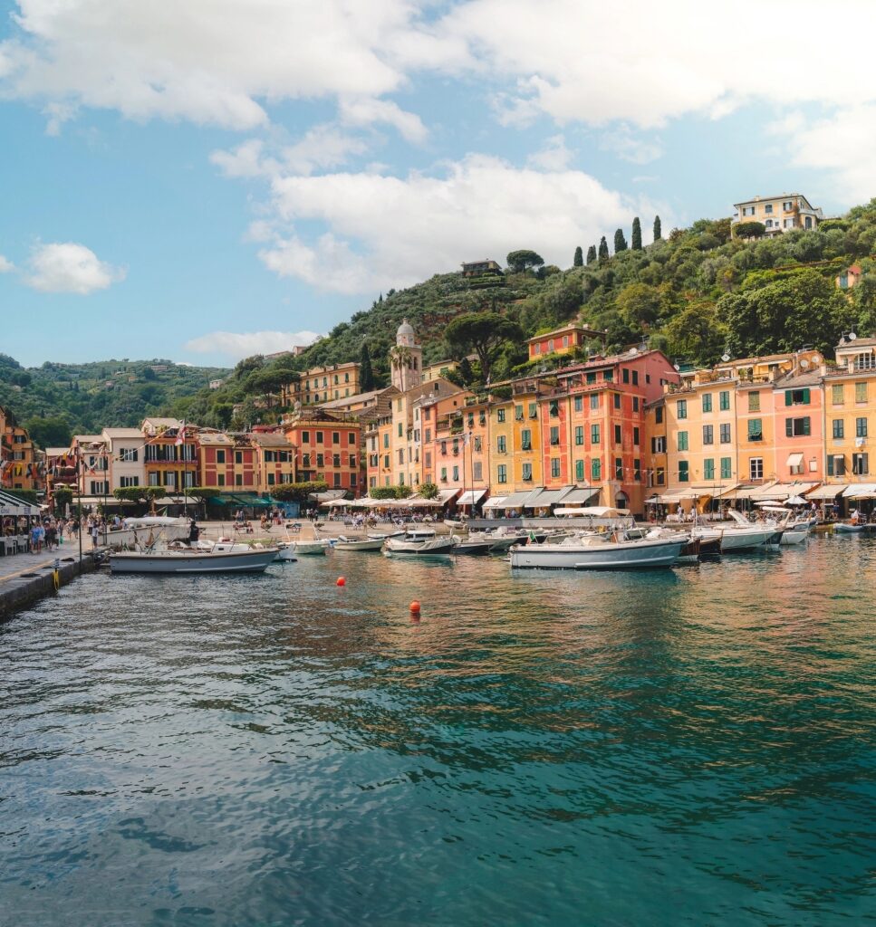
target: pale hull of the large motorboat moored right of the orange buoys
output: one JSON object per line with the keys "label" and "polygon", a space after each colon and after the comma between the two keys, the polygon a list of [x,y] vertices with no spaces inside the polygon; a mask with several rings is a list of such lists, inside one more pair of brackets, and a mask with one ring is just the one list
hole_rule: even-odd
{"label": "pale hull of the large motorboat moored right of the orange buoys", "polygon": [[553,570],[630,570],[672,566],[687,536],[677,540],[647,540],[637,543],[600,543],[598,546],[572,544],[527,544],[512,547],[511,566],[521,569]]}

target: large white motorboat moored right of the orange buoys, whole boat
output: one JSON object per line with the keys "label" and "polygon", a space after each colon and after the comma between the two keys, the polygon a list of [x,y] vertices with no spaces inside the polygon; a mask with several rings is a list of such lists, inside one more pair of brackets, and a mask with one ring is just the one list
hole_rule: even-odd
{"label": "large white motorboat moored right of the orange buoys, whole boat", "polygon": [[512,547],[511,566],[541,569],[644,569],[672,566],[689,543],[687,534],[674,538],[628,540],[625,531],[571,535],[559,543]]}

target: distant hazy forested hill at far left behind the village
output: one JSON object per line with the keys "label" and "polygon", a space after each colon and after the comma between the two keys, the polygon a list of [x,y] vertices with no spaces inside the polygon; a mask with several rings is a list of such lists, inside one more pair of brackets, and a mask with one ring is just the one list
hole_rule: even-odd
{"label": "distant hazy forested hill at far left behind the village", "polygon": [[46,362],[25,368],[0,354],[0,405],[27,427],[40,447],[61,447],[72,434],[139,425],[229,373],[160,359]]}

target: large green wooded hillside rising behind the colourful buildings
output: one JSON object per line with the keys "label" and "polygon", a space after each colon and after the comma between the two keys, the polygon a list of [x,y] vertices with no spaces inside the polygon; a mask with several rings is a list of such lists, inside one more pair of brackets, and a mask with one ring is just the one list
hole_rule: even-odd
{"label": "large green wooded hillside rising behind the colourful buildings", "polygon": [[[479,341],[471,324],[460,325],[463,320],[470,323],[476,315],[501,328],[486,346],[493,383],[527,369],[525,337],[573,319],[607,330],[609,349],[644,339],[677,361],[702,365],[715,363],[725,351],[741,357],[804,345],[829,350],[844,331],[876,330],[876,200],[813,231],[767,239],[758,223],[740,228],[751,237],[731,236],[729,219],[703,219],[663,236],[658,220],[656,240],[642,248],[637,222],[629,245],[621,229],[613,236],[607,230],[599,247],[570,242],[572,266],[566,270],[545,266],[534,251],[517,251],[509,254],[502,275],[435,275],[381,295],[296,358],[240,362],[225,387],[203,390],[177,402],[173,411],[225,426],[235,404],[244,401],[237,424],[272,421],[281,410],[270,393],[288,381],[290,370],[360,361],[363,349],[376,385],[383,385],[395,330],[404,318],[414,326],[427,363],[484,349],[483,333]],[[836,278],[852,264],[860,280],[841,290]],[[466,365],[463,375],[475,386],[485,378],[478,362]]]}

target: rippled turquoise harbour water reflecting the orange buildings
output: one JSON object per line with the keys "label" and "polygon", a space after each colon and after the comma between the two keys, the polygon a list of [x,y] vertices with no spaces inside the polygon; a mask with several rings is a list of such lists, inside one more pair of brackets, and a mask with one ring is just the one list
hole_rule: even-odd
{"label": "rippled turquoise harbour water reflecting the orange buildings", "polygon": [[0,626],[0,923],[876,922],[874,578],[84,578]]}

